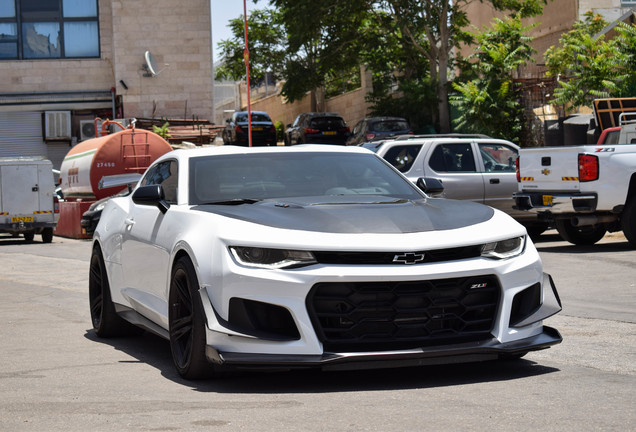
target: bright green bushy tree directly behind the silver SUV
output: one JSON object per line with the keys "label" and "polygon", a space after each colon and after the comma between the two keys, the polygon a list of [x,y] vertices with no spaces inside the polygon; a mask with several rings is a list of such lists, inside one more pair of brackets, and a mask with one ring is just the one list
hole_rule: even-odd
{"label": "bright green bushy tree directly behind the silver SUV", "polygon": [[532,60],[532,38],[526,35],[531,28],[512,16],[495,19],[490,29],[475,35],[478,45],[469,58],[474,60],[470,75],[475,78],[454,83],[457,93],[450,96],[460,113],[455,120],[458,130],[520,143],[523,107],[513,75]]}

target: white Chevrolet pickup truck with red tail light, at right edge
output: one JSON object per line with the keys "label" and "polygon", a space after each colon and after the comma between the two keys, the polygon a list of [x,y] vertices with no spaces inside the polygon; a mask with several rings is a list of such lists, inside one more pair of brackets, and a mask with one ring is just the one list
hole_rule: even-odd
{"label": "white Chevrolet pickup truck with red tail light, at right edge", "polygon": [[596,145],[525,148],[515,207],[536,213],[576,245],[623,231],[636,247],[636,122],[621,119]]}

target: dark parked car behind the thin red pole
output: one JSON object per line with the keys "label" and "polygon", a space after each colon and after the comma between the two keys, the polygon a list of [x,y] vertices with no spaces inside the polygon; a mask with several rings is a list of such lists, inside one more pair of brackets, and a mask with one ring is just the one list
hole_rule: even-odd
{"label": "dark parked car behind the thin red pole", "polygon": [[[223,144],[249,145],[248,115],[247,111],[237,111],[225,121],[225,129],[221,134]],[[264,111],[252,111],[252,145],[274,146],[276,145],[276,127],[272,119]]]}

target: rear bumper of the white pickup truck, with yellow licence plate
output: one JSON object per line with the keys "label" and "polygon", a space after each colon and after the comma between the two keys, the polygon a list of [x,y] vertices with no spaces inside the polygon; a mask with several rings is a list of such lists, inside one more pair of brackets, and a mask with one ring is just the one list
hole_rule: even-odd
{"label": "rear bumper of the white pickup truck, with yellow licence plate", "polygon": [[517,192],[512,195],[514,208],[530,213],[593,213],[598,196],[590,193]]}

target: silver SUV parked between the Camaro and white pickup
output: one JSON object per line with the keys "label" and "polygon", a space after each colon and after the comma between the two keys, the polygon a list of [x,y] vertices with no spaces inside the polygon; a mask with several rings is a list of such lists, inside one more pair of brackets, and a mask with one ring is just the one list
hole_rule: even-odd
{"label": "silver SUV parked between the Camaro and white pickup", "polygon": [[515,161],[519,146],[485,135],[404,135],[361,145],[376,152],[412,182],[439,179],[442,196],[471,200],[502,210],[523,224],[531,236],[548,228],[536,215],[515,210]]}

